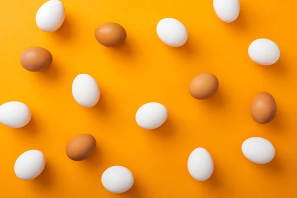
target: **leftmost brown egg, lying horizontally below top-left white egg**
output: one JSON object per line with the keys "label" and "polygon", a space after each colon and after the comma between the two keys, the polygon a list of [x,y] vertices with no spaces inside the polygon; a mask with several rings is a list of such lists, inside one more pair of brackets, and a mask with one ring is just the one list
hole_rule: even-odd
{"label": "leftmost brown egg, lying horizontally below top-left white egg", "polygon": [[52,55],[47,49],[31,47],[22,52],[20,62],[28,71],[42,71],[51,65]]}

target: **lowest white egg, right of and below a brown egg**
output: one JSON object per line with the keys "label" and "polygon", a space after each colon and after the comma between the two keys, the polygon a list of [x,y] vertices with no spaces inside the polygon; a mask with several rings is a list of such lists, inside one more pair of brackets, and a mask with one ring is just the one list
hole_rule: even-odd
{"label": "lowest white egg, right of and below a brown egg", "polygon": [[101,182],[111,193],[124,193],[133,186],[134,176],[126,167],[111,166],[103,172]]}

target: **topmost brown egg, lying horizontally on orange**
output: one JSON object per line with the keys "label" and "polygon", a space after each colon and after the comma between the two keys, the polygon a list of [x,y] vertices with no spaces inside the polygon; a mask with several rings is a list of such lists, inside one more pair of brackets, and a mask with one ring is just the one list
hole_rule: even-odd
{"label": "topmost brown egg, lying horizontally on orange", "polygon": [[116,47],[126,41],[126,30],[117,23],[103,23],[95,31],[97,41],[105,47]]}

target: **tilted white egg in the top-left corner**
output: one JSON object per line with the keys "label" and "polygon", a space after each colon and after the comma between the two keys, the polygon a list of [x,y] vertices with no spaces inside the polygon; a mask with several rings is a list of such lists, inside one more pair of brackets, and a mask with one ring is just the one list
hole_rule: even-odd
{"label": "tilted white egg in the top-left corner", "polygon": [[45,2],[36,13],[36,24],[44,32],[54,32],[59,29],[65,19],[65,8],[59,0]]}

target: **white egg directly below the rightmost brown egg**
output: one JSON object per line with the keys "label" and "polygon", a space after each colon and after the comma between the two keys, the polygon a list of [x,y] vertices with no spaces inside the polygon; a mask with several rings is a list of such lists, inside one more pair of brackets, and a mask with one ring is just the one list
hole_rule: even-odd
{"label": "white egg directly below the rightmost brown egg", "polygon": [[257,164],[270,162],[275,155],[273,145],[264,138],[248,138],[242,145],[242,151],[248,160]]}

